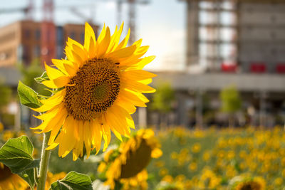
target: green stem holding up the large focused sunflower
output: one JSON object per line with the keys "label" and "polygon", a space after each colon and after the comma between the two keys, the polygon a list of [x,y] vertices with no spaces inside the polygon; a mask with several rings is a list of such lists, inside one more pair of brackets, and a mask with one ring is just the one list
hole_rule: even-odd
{"label": "green stem holding up the large focused sunflower", "polygon": [[48,172],[48,160],[51,154],[50,150],[46,150],[48,146],[48,139],[51,136],[51,132],[43,134],[43,147],[41,149],[41,162],[38,176],[38,186],[36,189],[44,190],[46,185],[46,173]]}

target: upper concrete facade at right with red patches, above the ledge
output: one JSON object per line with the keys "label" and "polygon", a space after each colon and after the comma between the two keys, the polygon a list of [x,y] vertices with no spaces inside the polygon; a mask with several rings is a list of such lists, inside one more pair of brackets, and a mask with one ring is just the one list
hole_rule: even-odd
{"label": "upper concrete facade at right with red patches, above the ledge", "polygon": [[285,73],[285,1],[187,3],[187,65],[209,72]]}

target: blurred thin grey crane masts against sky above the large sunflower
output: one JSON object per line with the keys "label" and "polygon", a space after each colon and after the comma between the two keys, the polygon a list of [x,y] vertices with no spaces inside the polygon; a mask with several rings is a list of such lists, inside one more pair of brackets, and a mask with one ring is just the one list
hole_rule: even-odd
{"label": "blurred thin grey crane masts against sky above the large sunflower", "polygon": [[117,16],[117,21],[118,24],[122,22],[122,4],[127,3],[128,4],[128,27],[130,28],[130,39],[129,43],[133,44],[135,42],[135,8],[136,4],[149,4],[149,0],[117,0],[117,11],[118,11],[118,16]]}

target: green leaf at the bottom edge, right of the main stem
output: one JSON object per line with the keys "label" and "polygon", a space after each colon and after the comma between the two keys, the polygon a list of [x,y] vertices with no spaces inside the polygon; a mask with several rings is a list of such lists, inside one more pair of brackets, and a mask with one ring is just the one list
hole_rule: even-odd
{"label": "green leaf at the bottom edge, right of the main stem", "polygon": [[51,184],[52,190],[92,190],[92,181],[89,176],[76,171],[69,172],[63,179]]}

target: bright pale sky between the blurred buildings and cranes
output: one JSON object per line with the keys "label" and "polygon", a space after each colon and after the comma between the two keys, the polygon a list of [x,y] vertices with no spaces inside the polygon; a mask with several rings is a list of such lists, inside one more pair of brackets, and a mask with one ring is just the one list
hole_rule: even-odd
{"label": "bright pale sky between the blurred buildings and cranes", "polygon": [[[35,12],[33,18],[41,21],[42,0],[34,0]],[[117,22],[117,6],[115,0],[54,0],[55,23],[85,23],[68,7],[76,7],[86,18],[92,18],[95,23],[110,26],[115,29]],[[1,0],[1,9],[24,7],[28,0]],[[123,4],[122,19],[128,27],[128,4]],[[142,45],[150,46],[146,56],[157,56],[146,66],[147,70],[182,70],[185,65],[186,36],[186,4],[178,0],[150,0],[148,4],[136,6],[136,38],[142,38]],[[24,14],[1,14],[0,26],[24,19]],[[125,33],[127,32],[125,28]]]}

